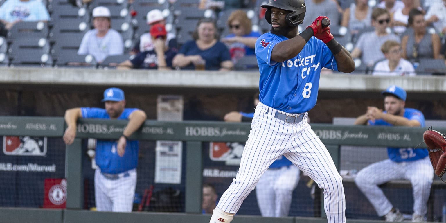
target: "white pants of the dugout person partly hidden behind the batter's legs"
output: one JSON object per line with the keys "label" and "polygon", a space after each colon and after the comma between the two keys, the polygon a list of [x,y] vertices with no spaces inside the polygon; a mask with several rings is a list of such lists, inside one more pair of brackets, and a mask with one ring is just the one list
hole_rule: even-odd
{"label": "white pants of the dugout person partly hidden behind the batter's legs", "polygon": [[262,216],[288,216],[293,190],[299,178],[300,170],[295,165],[265,171],[256,185],[257,203]]}

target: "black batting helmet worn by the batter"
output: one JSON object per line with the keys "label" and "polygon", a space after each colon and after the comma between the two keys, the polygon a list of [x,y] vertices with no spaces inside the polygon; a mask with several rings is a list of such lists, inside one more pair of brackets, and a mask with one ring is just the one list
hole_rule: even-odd
{"label": "black batting helmet worn by the batter", "polygon": [[290,26],[297,26],[304,21],[306,7],[304,0],[269,0],[267,4],[260,7],[266,8],[265,19],[271,24],[271,8],[280,8],[289,11],[285,21]]}

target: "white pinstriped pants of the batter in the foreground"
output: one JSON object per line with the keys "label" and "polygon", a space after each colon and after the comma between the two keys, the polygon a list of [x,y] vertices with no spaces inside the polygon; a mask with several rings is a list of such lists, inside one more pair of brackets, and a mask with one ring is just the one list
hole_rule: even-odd
{"label": "white pinstriped pants of the batter in the foreground", "polygon": [[289,124],[274,118],[276,111],[263,103],[257,105],[239,171],[217,207],[227,213],[237,213],[269,165],[285,155],[324,189],[328,223],[345,223],[342,178],[325,145],[307,123],[308,113],[300,123]]}

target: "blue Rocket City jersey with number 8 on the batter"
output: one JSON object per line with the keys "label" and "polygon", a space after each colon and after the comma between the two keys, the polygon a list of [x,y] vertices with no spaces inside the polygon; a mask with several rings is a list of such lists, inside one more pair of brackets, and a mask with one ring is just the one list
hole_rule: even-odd
{"label": "blue Rocket City jersey with number 8 on the batter", "polygon": [[271,59],[274,46],[287,37],[264,33],[256,41],[262,103],[288,113],[304,113],[316,105],[322,67],[338,71],[334,55],[324,42],[311,37],[296,57]]}

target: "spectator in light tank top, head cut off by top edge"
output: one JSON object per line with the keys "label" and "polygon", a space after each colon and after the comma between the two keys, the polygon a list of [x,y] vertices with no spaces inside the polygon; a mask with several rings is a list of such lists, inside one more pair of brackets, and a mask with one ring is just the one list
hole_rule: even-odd
{"label": "spectator in light tank top, head cut off by top edge", "polygon": [[368,6],[368,0],[355,0],[351,3],[350,8],[346,8],[343,12],[341,25],[348,27],[352,35],[359,33],[371,25],[372,7]]}

